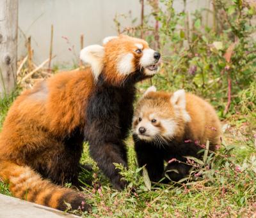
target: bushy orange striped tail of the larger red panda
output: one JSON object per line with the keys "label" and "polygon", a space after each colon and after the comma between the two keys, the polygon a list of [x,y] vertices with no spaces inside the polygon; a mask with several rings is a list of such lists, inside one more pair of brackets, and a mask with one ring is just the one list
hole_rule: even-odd
{"label": "bushy orange striped tail of the larger red panda", "polygon": [[67,210],[66,203],[71,205],[72,210],[90,210],[82,193],[52,184],[29,166],[0,161],[0,177],[10,184],[10,191],[17,198],[58,210]]}

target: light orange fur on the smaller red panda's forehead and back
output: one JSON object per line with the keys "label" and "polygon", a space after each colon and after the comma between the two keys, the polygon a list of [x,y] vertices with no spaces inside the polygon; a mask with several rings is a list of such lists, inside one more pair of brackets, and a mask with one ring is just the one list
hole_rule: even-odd
{"label": "light orange fur on the smaller red panda's forehead and back", "polygon": [[[175,138],[182,140],[184,134],[188,134],[189,139],[195,141],[198,140],[200,143],[205,144],[209,140],[213,145],[220,145],[221,136],[221,124],[216,112],[212,106],[207,103],[204,99],[195,96],[191,93],[186,93],[186,111],[191,117],[190,122],[185,122],[180,115],[177,115],[175,109],[170,101],[173,94],[168,92],[149,92],[145,98],[139,101],[136,108],[133,128],[138,125],[138,117],[143,112],[143,117],[150,119],[148,116],[152,113],[156,114],[159,122],[162,119],[173,119],[177,123],[175,128]],[[179,108],[178,108],[179,110]],[[157,125],[158,123],[154,124]],[[161,127],[161,133],[165,131],[163,126]],[[212,130],[212,127],[214,130]],[[216,131],[215,131],[216,130]]]}

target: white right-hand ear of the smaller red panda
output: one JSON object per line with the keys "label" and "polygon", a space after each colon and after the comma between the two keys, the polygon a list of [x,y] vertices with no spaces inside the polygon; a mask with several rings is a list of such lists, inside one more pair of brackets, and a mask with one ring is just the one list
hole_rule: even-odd
{"label": "white right-hand ear of the smaller red panda", "polygon": [[173,93],[170,99],[173,108],[175,109],[175,113],[179,115],[179,111],[182,115],[182,118],[185,122],[191,122],[191,117],[186,110],[186,93],[184,89],[180,89]]}

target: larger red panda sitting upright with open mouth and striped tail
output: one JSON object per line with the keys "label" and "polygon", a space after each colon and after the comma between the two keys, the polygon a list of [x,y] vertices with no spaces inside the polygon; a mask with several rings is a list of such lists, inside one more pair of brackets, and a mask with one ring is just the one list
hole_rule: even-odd
{"label": "larger red panda sitting upright with open mouth and striped tail", "polygon": [[84,48],[80,57],[90,67],[59,73],[23,92],[0,134],[0,177],[12,194],[60,210],[65,202],[90,208],[83,194],[58,186],[77,183],[84,140],[114,187],[125,187],[113,163],[127,166],[124,140],[134,84],[157,72],[160,54],[144,40],[115,36]]}

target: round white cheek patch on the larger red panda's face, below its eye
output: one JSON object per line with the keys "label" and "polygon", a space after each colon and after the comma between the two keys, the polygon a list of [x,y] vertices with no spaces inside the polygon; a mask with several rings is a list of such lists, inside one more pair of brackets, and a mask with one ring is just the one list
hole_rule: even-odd
{"label": "round white cheek patch on the larger red panda's face, below its eye", "polygon": [[119,73],[129,75],[130,73],[135,71],[134,64],[132,63],[133,59],[134,57],[131,53],[123,55],[117,64],[117,69]]}

